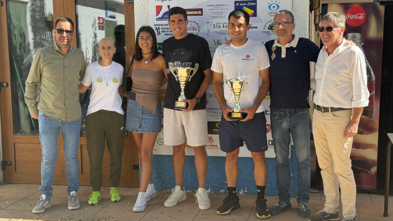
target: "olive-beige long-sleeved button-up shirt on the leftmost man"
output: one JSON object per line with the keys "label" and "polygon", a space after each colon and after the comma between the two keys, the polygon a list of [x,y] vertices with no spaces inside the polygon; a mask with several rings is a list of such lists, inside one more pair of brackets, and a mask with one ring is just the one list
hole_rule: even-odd
{"label": "olive-beige long-sleeved button-up shirt on the leftmost man", "polygon": [[[57,44],[38,50],[26,80],[25,102],[31,114],[42,111],[47,117],[76,121],[82,116],[78,82],[84,77],[83,51],[70,46],[63,55]],[[36,88],[41,91],[36,103]]]}

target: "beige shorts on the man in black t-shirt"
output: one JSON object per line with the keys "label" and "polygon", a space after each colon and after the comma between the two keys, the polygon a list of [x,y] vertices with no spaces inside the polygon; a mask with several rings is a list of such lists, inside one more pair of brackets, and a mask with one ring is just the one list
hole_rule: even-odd
{"label": "beige shorts on the man in black t-shirt", "polygon": [[186,113],[164,108],[164,144],[175,146],[186,142],[189,146],[209,143],[206,110]]}

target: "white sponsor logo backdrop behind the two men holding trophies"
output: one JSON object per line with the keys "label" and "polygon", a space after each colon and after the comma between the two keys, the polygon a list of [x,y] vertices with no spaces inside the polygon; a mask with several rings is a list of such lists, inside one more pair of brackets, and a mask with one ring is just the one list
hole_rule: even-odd
{"label": "white sponsor logo backdrop behind the two men holding trophies", "polygon": [[[157,36],[157,48],[161,51],[162,42],[173,36],[168,26],[169,9],[179,6],[187,11],[189,20],[187,31],[206,39],[209,44],[212,57],[216,49],[230,39],[228,32],[228,15],[235,9],[243,9],[250,14],[251,28],[247,31],[247,37],[261,44],[276,39],[273,28],[273,18],[277,11],[291,10],[291,0],[149,0],[149,25],[153,27]],[[166,85],[161,88],[160,101],[164,105]],[[219,131],[221,121],[221,108],[215,98],[212,85],[206,91],[206,98],[209,100],[206,106],[207,126],[209,144],[206,145],[209,156],[225,156],[225,152],[220,149]],[[268,140],[268,150],[266,157],[275,157],[273,148],[273,138],[270,129],[270,96],[263,101],[266,116],[266,131]],[[164,144],[164,131],[158,134],[153,154],[172,155],[172,147]],[[289,147],[288,147],[289,148]],[[186,148],[187,155],[194,155],[192,148]],[[246,144],[240,147],[240,157],[251,157]]]}

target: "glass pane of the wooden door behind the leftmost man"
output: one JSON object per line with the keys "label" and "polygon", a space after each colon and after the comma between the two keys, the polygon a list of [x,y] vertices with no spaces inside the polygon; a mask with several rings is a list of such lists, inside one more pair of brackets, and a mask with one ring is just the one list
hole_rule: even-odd
{"label": "glass pane of the wooden door behind the leftmost man", "polygon": [[[26,79],[35,52],[54,43],[52,0],[6,1],[14,135],[38,135],[38,120],[25,103]],[[37,102],[39,90],[37,87]]]}

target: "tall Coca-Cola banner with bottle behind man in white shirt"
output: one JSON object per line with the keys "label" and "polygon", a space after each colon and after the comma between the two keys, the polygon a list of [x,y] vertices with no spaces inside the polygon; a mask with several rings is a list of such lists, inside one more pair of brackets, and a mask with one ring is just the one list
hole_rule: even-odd
{"label": "tall Coca-Cola banner with bottle behind man in white shirt", "polygon": [[384,6],[378,2],[329,3],[328,12],[344,13],[344,37],[353,41],[365,54],[368,106],[359,122],[351,151],[352,169],[358,189],[376,189],[379,99],[381,92]]}

